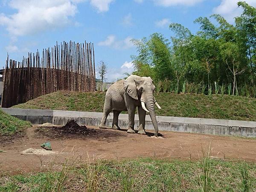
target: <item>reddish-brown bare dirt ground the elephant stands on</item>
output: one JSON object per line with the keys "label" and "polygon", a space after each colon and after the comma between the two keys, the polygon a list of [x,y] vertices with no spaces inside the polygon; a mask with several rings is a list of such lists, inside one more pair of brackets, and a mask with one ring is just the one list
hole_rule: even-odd
{"label": "reddish-brown bare dirt ground the elephant stands on", "polygon": [[[123,159],[137,157],[156,157],[171,159],[198,159],[202,147],[208,149],[211,142],[212,158],[241,159],[256,162],[256,140],[239,137],[220,137],[203,134],[187,134],[160,131],[162,137],[128,134],[126,130],[99,129],[84,127],[82,131],[67,133],[60,127],[34,125],[27,129],[23,137],[3,141],[0,139],[0,170],[11,174],[38,172],[46,168],[53,159],[61,163],[73,154],[81,155],[81,160],[89,156],[102,159]],[[50,142],[52,151],[45,154],[42,143]],[[31,151],[23,154],[23,151]],[[45,150],[46,151],[46,150]],[[56,158],[58,157],[58,158]]]}

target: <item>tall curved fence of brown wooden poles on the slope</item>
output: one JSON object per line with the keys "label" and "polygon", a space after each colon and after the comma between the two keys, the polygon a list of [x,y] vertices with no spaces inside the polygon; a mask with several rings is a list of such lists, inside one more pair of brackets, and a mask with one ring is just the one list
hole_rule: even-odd
{"label": "tall curved fence of brown wooden poles on the slope", "polygon": [[7,55],[3,73],[2,107],[9,108],[57,90],[96,91],[92,43],[58,42],[42,55],[28,53],[14,61]]}

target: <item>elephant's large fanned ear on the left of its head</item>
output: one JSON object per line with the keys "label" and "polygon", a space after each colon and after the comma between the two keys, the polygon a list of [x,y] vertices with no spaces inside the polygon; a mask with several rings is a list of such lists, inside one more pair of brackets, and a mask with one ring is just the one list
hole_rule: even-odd
{"label": "elephant's large fanned ear on the left of its head", "polygon": [[124,90],[133,99],[138,99],[136,86],[137,86],[137,81],[139,79],[140,79],[140,76],[132,75],[132,76],[129,76],[124,81]]}

